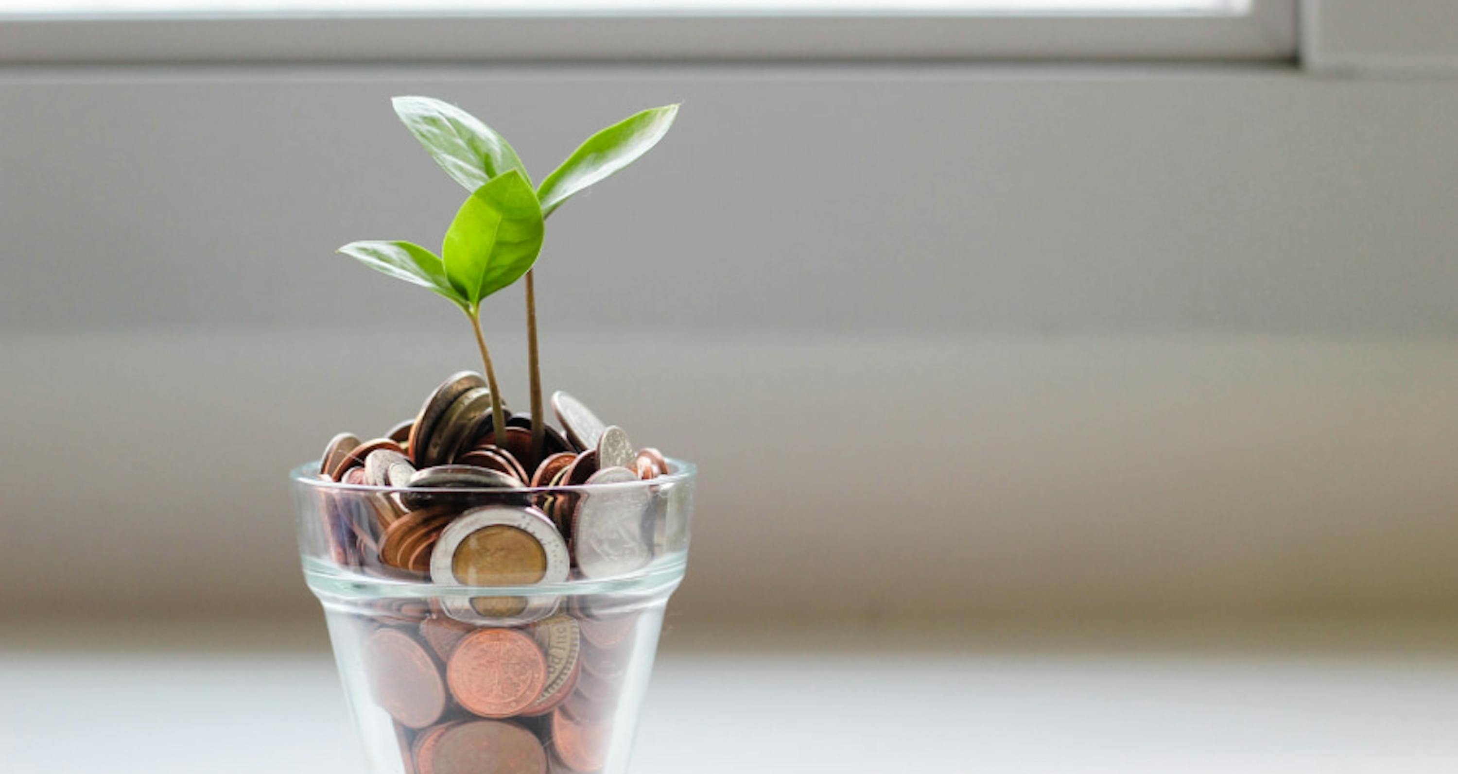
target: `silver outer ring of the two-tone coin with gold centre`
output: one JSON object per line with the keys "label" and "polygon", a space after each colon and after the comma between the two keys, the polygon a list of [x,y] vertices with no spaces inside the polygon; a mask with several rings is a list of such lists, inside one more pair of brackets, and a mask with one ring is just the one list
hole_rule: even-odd
{"label": "silver outer ring of the two-tone coin with gold centre", "polygon": [[[455,577],[452,564],[456,550],[465,539],[488,526],[512,526],[531,535],[542,547],[547,557],[547,570],[537,583],[561,583],[567,580],[572,570],[572,555],[567,552],[567,542],[557,533],[547,516],[534,507],[484,506],[462,513],[446,526],[430,551],[430,580],[440,585],[453,586],[459,582]],[[557,595],[532,595],[521,598],[523,608],[512,615],[483,615],[469,596],[445,595],[440,598],[446,615],[468,622],[488,622],[500,627],[529,624],[541,621],[557,612],[561,598]]]}

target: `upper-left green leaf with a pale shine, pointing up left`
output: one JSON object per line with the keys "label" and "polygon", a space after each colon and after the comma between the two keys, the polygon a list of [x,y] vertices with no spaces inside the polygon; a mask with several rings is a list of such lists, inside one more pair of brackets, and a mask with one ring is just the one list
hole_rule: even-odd
{"label": "upper-left green leaf with a pale shine, pointing up left", "polygon": [[391,103],[440,169],[467,191],[475,191],[507,169],[528,178],[510,143],[461,108],[429,96],[397,96]]}

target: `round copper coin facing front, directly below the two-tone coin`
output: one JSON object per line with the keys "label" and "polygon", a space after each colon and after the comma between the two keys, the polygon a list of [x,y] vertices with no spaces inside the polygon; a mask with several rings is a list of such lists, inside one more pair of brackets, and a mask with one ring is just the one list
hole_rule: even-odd
{"label": "round copper coin facing front, directly below the two-tone coin", "polygon": [[521,631],[483,628],[456,644],[446,682],[467,710],[481,717],[510,717],[541,695],[547,659]]}

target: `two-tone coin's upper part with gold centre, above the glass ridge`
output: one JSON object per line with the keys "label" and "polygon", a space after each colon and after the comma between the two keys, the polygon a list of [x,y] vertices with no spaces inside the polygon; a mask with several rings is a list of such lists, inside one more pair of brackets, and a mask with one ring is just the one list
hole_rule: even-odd
{"label": "two-tone coin's upper part with gold centre, above the glass ridge", "polygon": [[534,507],[468,510],[445,529],[430,555],[430,579],[448,585],[561,583],[570,567],[567,544]]}

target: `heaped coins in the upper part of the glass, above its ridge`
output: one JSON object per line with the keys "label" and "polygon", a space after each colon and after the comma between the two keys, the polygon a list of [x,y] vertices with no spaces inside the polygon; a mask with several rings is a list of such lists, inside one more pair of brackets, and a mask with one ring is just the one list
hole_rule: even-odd
{"label": "heaped coins in the upper part of the glass, above its ridge", "polygon": [[331,439],[319,477],[351,485],[322,493],[331,558],[385,577],[469,586],[602,579],[646,566],[662,528],[649,490],[532,490],[658,478],[668,461],[634,449],[621,427],[572,395],[551,402],[561,431],[544,423],[534,449],[531,417],[507,411],[497,433],[490,388],[462,372],[383,436]]}

